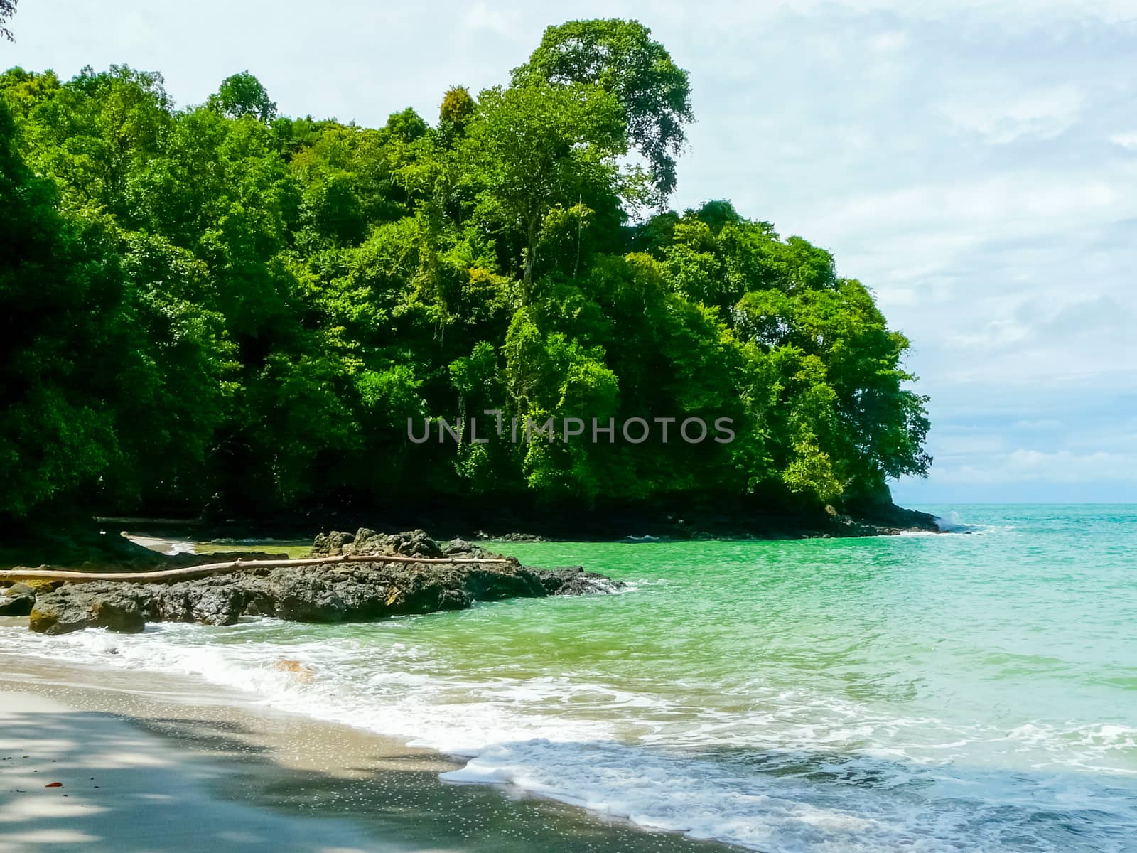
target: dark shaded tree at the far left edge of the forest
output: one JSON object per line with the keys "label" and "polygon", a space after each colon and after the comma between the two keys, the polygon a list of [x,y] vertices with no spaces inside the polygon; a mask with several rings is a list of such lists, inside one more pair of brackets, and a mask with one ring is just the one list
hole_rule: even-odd
{"label": "dark shaded tree at the far left edge of the forest", "polygon": [[[90,488],[118,456],[117,259],[98,221],[68,221],[16,150],[0,100],[0,511]],[[116,361],[119,364],[116,365]]]}

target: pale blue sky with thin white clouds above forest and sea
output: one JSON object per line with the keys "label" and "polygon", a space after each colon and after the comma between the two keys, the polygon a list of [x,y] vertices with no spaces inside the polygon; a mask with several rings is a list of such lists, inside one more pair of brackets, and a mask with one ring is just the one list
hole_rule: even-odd
{"label": "pale blue sky with thin white clouds above forest and sea", "polygon": [[672,204],[831,250],[911,338],[935,462],[898,503],[1137,503],[1137,0],[19,0],[0,66],[125,63],[183,106],[248,69],[285,115],[433,121],[613,16],[690,72]]}

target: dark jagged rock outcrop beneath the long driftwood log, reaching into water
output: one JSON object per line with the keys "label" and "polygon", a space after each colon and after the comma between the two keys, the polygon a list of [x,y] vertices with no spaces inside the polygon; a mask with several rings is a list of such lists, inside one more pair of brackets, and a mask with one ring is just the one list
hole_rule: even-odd
{"label": "dark jagged rock outcrop beneath the long driftwood log, reaching into water", "polygon": [[91,581],[41,594],[30,627],[43,633],[82,628],[141,631],[147,622],[232,624],[243,615],[297,622],[347,622],[435,611],[475,602],[614,591],[622,583],[580,566],[530,569],[498,563],[390,563],[384,555],[500,557],[456,539],[446,545],[422,530],[381,535],[360,529],[316,538],[314,556],[375,555],[375,561],[250,569],[177,583]]}

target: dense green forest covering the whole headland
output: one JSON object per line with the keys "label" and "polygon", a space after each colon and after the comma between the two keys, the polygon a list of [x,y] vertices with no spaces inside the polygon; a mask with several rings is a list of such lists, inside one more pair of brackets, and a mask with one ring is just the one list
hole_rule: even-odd
{"label": "dense green forest covering the whole headland", "polygon": [[[646,27],[549,27],[440,105],[371,129],[248,72],[190,107],[126,66],[3,73],[2,511],[840,505],[927,471],[871,291],[728,201],[667,209],[690,86]],[[737,434],[408,440],[487,409]]]}

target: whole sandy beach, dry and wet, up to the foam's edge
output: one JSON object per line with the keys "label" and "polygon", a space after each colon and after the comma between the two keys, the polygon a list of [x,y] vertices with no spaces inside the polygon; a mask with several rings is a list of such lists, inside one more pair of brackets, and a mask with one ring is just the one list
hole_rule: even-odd
{"label": "whole sandy beach, dry and wet, up to the foam's edge", "polygon": [[514,786],[443,781],[464,762],[192,677],[5,657],[3,853],[738,850]]}

